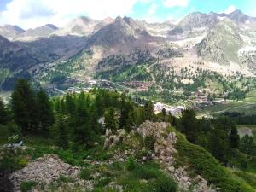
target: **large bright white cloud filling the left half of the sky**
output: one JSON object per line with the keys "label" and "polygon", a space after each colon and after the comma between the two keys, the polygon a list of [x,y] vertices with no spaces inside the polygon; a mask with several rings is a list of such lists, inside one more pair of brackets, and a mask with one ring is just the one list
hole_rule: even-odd
{"label": "large bright white cloud filling the left half of the sky", "polygon": [[0,13],[0,25],[9,23],[25,29],[47,23],[63,26],[79,15],[102,20],[131,14],[137,1],[149,0],[12,0]]}

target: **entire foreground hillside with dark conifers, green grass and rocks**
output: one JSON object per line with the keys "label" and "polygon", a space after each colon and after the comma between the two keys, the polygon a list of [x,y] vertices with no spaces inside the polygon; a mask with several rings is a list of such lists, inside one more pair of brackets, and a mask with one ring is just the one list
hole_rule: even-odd
{"label": "entire foreground hillside with dark conifers, green grass and rocks", "polygon": [[255,191],[255,154],[224,117],[154,114],[111,90],[49,98],[23,79],[0,117],[3,191]]}

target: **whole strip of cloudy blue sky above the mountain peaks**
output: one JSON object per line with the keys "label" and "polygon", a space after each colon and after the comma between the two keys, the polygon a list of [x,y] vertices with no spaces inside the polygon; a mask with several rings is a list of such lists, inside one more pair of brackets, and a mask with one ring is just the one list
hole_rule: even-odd
{"label": "whole strip of cloudy blue sky above the mountain peaks", "polygon": [[61,27],[78,16],[96,20],[131,16],[149,22],[177,21],[196,11],[228,14],[236,9],[256,16],[256,0],[0,0],[0,26],[28,29],[50,23]]}

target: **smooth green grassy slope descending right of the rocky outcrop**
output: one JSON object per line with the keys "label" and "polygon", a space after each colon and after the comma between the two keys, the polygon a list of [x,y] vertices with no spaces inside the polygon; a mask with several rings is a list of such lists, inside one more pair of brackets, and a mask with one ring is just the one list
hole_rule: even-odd
{"label": "smooth green grassy slope descending right of the rocky outcrop", "polygon": [[191,175],[201,175],[206,178],[209,183],[213,183],[220,188],[220,192],[249,192],[255,191],[246,182],[237,180],[232,177],[230,173],[221,166],[212,154],[208,153],[205,149],[189,143],[186,138],[173,128],[169,131],[177,133],[177,162],[182,162],[183,166],[188,166],[191,170]]}

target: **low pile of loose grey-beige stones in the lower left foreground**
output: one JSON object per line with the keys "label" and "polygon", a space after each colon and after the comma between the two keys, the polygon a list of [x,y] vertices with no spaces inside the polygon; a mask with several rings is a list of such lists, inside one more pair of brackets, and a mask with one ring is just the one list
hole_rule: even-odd
{"label": "low pile of loose grey-beige stones in the lower left foreground", "polygon": [[35,181],[36,183],[48,184],[61,175],[77,177],[79,172],[79,167],[64,163],[54,154],[47,154],[32,161],[23,169],[13,172],[9,176],[9,180],[13,183],[14,190],[19,191],[22,182]]}

